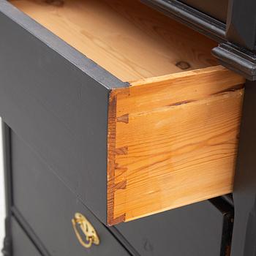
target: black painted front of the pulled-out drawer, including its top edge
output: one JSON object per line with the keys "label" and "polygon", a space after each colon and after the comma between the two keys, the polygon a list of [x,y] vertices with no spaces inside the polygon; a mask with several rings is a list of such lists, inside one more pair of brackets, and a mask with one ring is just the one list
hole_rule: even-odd
{"label": "black painted front of the pulled-out drawer, including its top edge", "polygon": [[0,0],[0,116],[106,221],[108,93],[126,86]]}

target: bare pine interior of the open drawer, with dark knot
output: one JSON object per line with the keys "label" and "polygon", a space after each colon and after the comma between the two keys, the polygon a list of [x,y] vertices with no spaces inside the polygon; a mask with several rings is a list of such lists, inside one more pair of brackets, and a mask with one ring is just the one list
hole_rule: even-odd
{"label": "bare pine interior of the open drawer, with dark knot", "polygon": [[137,0],[10,2],[123,81],[217,65],[216,42]]}

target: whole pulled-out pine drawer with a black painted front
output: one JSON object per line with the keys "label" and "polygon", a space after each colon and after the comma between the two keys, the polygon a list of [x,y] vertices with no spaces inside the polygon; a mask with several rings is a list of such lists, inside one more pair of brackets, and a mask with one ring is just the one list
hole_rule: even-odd
{"label": "whole pulled-out pine drawer with a black painted front", "polygon": [[133,0],[0,12],[1,116],[102,222],[232,192],[244,78],[215,42]]}

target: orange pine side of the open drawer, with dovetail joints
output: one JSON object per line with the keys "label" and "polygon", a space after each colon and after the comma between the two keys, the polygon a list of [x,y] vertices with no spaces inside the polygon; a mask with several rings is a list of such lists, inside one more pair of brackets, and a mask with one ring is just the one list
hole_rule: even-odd
{"label": "orange pine side of the open drawer, with dovetail joints", "polygon": [[210,67],[111,92],[109,225],[232,191],[243,83]]}

